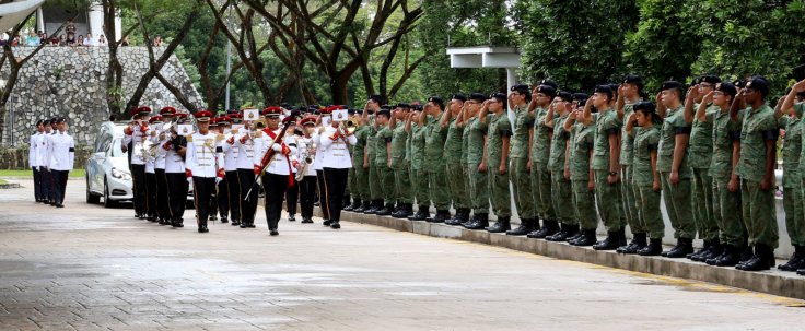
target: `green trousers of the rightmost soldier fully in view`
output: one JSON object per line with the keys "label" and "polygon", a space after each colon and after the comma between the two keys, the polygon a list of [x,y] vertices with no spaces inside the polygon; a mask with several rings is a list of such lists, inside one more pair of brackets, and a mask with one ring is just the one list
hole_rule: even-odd
{"label": "green trousers of the rightmost soldier fully in view", "polygon": [[760,182],[740,179],[740,202],[744,224],[749,233],[749,246],[762,244],[778,247],[780,233],[777,227],[774,190],[760,190]]}

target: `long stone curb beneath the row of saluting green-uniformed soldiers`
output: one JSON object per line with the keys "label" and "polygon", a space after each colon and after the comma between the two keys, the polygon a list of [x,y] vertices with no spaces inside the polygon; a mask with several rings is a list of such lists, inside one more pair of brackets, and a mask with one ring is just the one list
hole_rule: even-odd
{"label": "long stone curb beneath the row of saluting green-uniformed soldiers", "polygon": [[[320,216],[319,208],[315,208],[315,214],[316,216]],[[463,227],[439,223],[415,222],[393,218],[389,216],[366,215],[352,212],[342,212],[341,220],[424,236],[451,238],[504,247],[560,260],[579,261],[662,276],[696,280],[772,295],[805,299],[805,276],[800,276],[794,272],[783,272],[779,270],[747,272],[728,267],[712,267],[687,259],[619,255],[615,251],[597,251],[590,247],[576,247],[567,243],[530,239],[524,236],[513,237],[503,234],[490,234],[486,230],[470,230]]]}

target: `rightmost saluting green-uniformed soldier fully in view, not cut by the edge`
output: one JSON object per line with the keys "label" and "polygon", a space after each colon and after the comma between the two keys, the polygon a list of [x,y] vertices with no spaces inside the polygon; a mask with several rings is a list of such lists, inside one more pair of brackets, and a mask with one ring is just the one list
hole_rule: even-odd
{"label": "rightmost saluting green-uniformed soldier fully in view, not cut by the edge", "polygon": [[755,255],[735,268],[745,271],[768,270],[774,265],[774,248],[779,233],[774,210],[774,163],[777,138],[780,133],[774,111],[766,104],[769,83],[752,78],[733,103],[731,115],[746,105],[740,125],[740,158],[735,168],[740,177],[740,200],[744,223],[749,233],[749,246]]}

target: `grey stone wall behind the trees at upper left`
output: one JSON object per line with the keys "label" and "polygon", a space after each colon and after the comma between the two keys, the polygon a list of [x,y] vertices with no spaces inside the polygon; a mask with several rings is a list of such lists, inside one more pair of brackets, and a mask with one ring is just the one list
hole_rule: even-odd
{"label": "grey stone wall behind the trees at upper left", "polygon": [[[25,57],[32,47],[15,47],[16,57]],[[164,48],[155,48],[155,57]],[[131,96],[142,73],[148,70],[148,48],[120,47],[124,67],[124,99]],[[7,105],[2,142],[7,146],[27,143],[34,123],[40,118],[65,116],[69,131],[79,145],[91,145],[98,125],[108,120],[106,106],[106,68],[108,49],[105,47],[46,47],[28,60]],[[8,64],[0,75],[8,76]],[[177,86],[187,98],[200,105],[201,96],[192,86],[184,67],[172,56],[162,74]],[[173,94],[154,79],[148,86],[141,104],[152,108],[174,106],[184,109]],[[13,132],[13,139],[12,133]]]}

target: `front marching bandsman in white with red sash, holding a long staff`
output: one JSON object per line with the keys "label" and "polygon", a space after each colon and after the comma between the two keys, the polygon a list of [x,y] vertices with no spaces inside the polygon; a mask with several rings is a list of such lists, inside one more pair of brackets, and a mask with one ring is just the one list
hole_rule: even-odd
{"label": "front marching bandsman in white with red sash, holding a long staff", "polygon": [[279,235],[277,227],[282,212],[282,201],[285,190],[293,185],[291,155],[296,153],[296,147],[290,145],[293,143],[292,138],[284,137],[284,131],[279,126],[280,114],[282,114],[280,107],[268,107],[262,110],[267,128],[255,137],[254,170],[255,174],[260,174],[262,168],[266,168],[261,179],[266,190],[266,221],[271,236]]}

